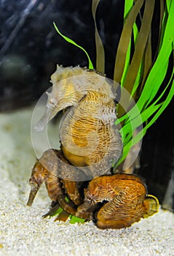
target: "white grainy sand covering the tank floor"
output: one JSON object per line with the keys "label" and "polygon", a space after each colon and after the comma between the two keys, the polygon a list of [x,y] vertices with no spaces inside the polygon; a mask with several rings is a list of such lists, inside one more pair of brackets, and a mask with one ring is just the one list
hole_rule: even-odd
{"label": "white grainy sand covering the tank floor", "polygon": [[50,206],[44,186],[33,206],[25,206],[35,162],[31,114],[26,109],[0,115],[0,255],[174,255],[174,214],[168,211],[127,229],[99,230],[92,222],[41,219]]}

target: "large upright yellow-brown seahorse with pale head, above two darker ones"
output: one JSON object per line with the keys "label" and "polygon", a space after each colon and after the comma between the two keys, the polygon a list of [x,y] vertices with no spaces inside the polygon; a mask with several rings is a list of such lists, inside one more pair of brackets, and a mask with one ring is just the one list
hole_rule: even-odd
{"label": "large upright yellow-brown seahorse with pale head, above two darker ones", "polygon": [[59,65],[51,81],[47,110],[36,129],[43,129],[60,110],[68,109],[59,130],[64,156],[87,179],[109,173],[122,154],[113,86],[93,69]]}

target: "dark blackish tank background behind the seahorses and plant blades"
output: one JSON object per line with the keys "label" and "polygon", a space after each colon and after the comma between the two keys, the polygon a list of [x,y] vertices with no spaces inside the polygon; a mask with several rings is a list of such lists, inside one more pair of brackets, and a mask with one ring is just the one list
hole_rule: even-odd
{"label": "dark blackish tank background behind the seahorses and plant blades", "polygon": [[[153,56],[159,35],[159,1],[152,22]],[[67,37],[89,53],[95,64],[95,29],[92,1],[0,0],[0,111],[33,105],[51,86],[56,64],[88,65],[84,52],[55,31],[53,21]],[[143,12],[143,10],[142,10]],[[97,23],[106,51],[106,75],[113,78],[116,48],[123,26],[124,1],[102,0]],[[139,20],[137,19],[137,23]],[[171,69],[173,60],[170,61]],[[165,85],[164,85],[165,86]],[[141,169],[149,192],[160,202],[174,169],[173,102],[143,138]]]}

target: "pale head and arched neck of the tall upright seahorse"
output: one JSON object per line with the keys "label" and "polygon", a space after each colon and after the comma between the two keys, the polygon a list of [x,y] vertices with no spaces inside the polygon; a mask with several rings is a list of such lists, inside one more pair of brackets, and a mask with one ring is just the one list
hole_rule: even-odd
{"label": "pale head and arched neck of the tall upright seahorse", "polygon": [[47,123],[60,111],[76,105],[87,91],[98,91],[114,98],[111,85],[103,75],[87,68],[63,67],[57,65],[56,71],[51,76],[52,91],[47,92],[46,113],[36,125],[37,130],[42,130]]}

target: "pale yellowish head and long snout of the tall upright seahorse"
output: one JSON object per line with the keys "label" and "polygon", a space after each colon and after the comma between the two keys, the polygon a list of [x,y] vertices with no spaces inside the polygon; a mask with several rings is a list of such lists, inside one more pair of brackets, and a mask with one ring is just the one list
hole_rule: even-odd
{"label": "pale yellowish head and long snout of the tall upright seahorse", "polygon": [[57,65],[56,71],[51,75],[52,91],[47,93],[47,105],[44,116],[36,124],[36,130],[41,131],[47,123],[60,111],[76,105],[84,96],[85,91],[80,83],[79,76],[82,76],[87,69],[77,67],[63,67]]}

